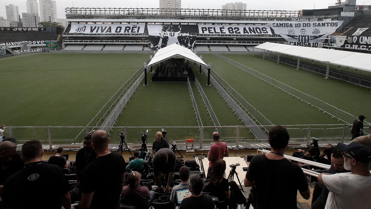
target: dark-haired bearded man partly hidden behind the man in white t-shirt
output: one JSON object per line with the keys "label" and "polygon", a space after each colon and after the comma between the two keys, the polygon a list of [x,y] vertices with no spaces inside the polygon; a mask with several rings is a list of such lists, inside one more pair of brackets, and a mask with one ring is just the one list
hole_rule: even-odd
{"label": "dark-haired bearded man partly hidden behind the man in white t-shirt", "polygon": [[[341,150],[338,148],[335,148],[332,150],[331,154],[331,167],[327,171],[329,174],[335,174],[335,173],[347,173],[350,172],[348,170],[345,170],[344,168],[344,158],[341,155]],[[328,189],[324,185],[322,187],[321,195],[313,202],[312,209],[324,209],[326,205],[326,200],[328,197]]]}

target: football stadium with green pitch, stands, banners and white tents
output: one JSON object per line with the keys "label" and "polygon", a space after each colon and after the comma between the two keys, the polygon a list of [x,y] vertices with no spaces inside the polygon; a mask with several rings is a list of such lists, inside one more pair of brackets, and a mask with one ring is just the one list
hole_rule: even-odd
{"label": "football stadium with green pitch, stands, banners and white tents", "polygon": [[[348,148],[352,140],[371,136],[367,122],[371,117],[371,6],[339,0],[327,9],[299,11],[70,7],[65,16],[66,27],[52,27],[50,21],[50,27],[0,28],[4,140],[0,147],[10,140],[23,156],[23,149],[30,146],[27,143],[36,140],[42,146],[43,161],[56,151],[60,157],[64,149],[68,167],[62,168],[68,191],[80,188],[79,174],[84,169],[78,173],[73,166],[81,166],[82,149],[86,158],[86,140],[91,140],[98,157],[106,151],[121,153],[125,166],[138,156],[144,159],[140,169],[127,167],[124,185],[131,188],[139,172],[139,184],[154,190],[155,200],[164,192],[161,185],[169,184],[166,181],[174,187],[183,184],[182,165],[189,168],[188,176],[189,172],[203,179],[211,175],[213,182],[217,171],[208,168],[220,160],[214,161],[211,152],[215,144],[225,142],[227,152],[221,161],[224,166],[232,164],[226,175],[236,184],[229,186],[236,199],[218,200],[213,189],[203,193],[210,194],[216,208],[261,208],[262,192],[249,184],[253,174],[246,170],[253,155],[277,154],[273,132],[282,127],[289,138],[283,149],[286,154],[278,155],[302,168],[299,171],[311,194],[308,200],[299,189],[294,205],[313,208],[322,190],[318,182],[329,187],[321,173],[334,169],[330,166],[335,152],[328,150],[338,149],[338,143]],[[101,133],[109,138],[108,148],[98,153],[94,139]],[[165,175],[162,184],[156,172],[155,159],[162,150],[157,150],[157,136],[166,144],[161,148],[171,149],[177,158],[174,176]],[[341,159],[349,157],[341,151]],[[137,199],[125,201],[122,192],[119,207],[182,208],[187,202],[184,197],[195,195],[194,178],[188,181],[189,191],[173,191],[177,202],[169,197],[156,202],[151,197],[152,201],[140,206]],[[237,200],[234,186],[243,191],[241,198],[246,197],[247,205]],[[84,191],[88,190],[82,188],[83,197],[81,191],[77,198],[69,192],[72,208],[85,208]],[[4,191],[10,193],[9,187]],[[117,208],[96,196],[91,208],[94,204],[95,208]],[[290,208],[285,204],[276,207]],[[63,202],[60,206],[66,208]]]}

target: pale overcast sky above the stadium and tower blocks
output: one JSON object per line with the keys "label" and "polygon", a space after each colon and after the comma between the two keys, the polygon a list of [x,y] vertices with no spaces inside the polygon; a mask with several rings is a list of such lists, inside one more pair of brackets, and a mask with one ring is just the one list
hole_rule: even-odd
{"label": "pale overcast sky above the stadium and tower blocks", "polygon": [[[231,0],[182,0],[182,8],[191,9],[221,9],[221,5],[235,2]],[[237,0],[241,1],[241,0]],[[247,4],[248,10],[302,10],[302,9],[324,9],[329,4],[336,3],[337,0],[257,0],[252,2],[243,0]],[[39,1],[37,1],[39,3]],[[158,8],[159,0],[57,0],[57,16],[65,17],[65,8],[72,7],[111,7],[111,8]],[[19,13],[27,12],[26,0],[1,0],[0,16],[6,19],[5,5],[14,4],[19,6]],[[370,5],[371,0],[358,0],[359,5]]]}

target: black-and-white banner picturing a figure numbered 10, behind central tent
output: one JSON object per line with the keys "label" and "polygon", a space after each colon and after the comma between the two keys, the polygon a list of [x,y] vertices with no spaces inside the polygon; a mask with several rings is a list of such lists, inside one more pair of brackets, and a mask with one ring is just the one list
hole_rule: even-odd
{"label": "black-and-white banner picturing a figure numbered 10, behind central tent", "polygon": [[192,49],[196,43],[196,25],[147,25],[147,28],[150,49],[161,49],[171,44]]}

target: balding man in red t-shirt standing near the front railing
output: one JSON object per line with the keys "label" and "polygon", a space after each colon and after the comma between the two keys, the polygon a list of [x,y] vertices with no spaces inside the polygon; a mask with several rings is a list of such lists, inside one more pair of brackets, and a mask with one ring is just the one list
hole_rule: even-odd
{"label": "balding man in red t-shirt standing near the front railing", "polygon": [[213,133],[213,140],[215,144],[211,145],[209,156],[207,156],[207,160],[209,160],[209,169],[207,169],[207,179],[209,179],[210,172],[213,169],[214,163],[219,160],[223,159],[223,157],[228,157],[228,148],[225,142],[219,141],[220,135],[218,132]]}

